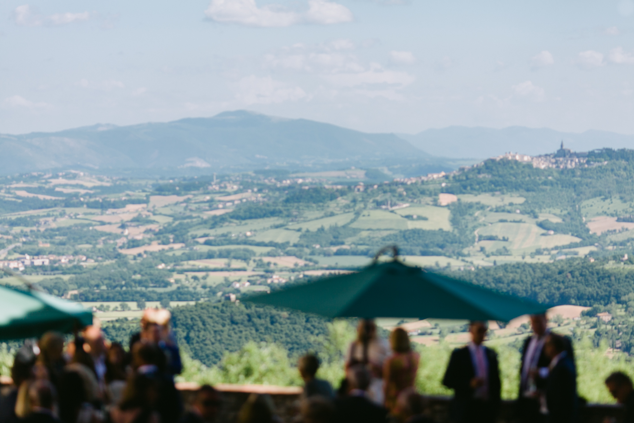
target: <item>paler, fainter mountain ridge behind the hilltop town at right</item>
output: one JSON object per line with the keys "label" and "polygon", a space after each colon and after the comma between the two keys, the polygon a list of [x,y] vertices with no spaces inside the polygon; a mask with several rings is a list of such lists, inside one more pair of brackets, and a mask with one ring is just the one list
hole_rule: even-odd
{"label": "paler, fainter mountain ridge behind the hilltop town at right", "polygon": [[398,134],[403,140],[439,157],[486,159],[506,152],[540,155],[566,148],[586,152],[595,148],[634,148],[634,135],[607,131],[564,133],[548,128],[510,126],[503,129],[450,126],[421,133]]}

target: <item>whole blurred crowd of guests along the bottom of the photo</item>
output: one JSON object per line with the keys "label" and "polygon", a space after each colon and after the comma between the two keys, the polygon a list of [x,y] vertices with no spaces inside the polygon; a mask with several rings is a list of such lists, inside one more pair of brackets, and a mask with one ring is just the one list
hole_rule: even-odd
{"label": "whole blurred crowd of guests along the bottom of the photo", "polygon": [[[141,330],[126,351],[108,343],[99,325],[65,342],[56,332],[25,342],[15,355],[13,388],[0,401],[1,423],[215,423],[223,395],[205,385],[186,407],[174,376],[182,370],[165,309],[146,309]],[[533,334],[524,342],[519,368],[519,423],[574,423],[583,399],[576,387],[571,341],[550,332],[545,315],[531,316]],[[471,341],[451,354],[443,378],[454,391],[451,420],[493,423],[501,406],[500,368],[495,351],[483,342],[487,322],[470,322]],[[389,342],[373,320],[360,320],[347,349],[346,377],[335,390],[316,377],[318,357],[307,354],[297,368],[304,389],[297,423],[431,423],[428,404],[415,390],[420,356],[408,333],[397,327]],[[634,386],[622,372],[605,386],[624,405],[624,422],[634,423]],[[228,415],[224,413],[224,415]],[[251,394],[237,423],[279,423],[273,400]]]}

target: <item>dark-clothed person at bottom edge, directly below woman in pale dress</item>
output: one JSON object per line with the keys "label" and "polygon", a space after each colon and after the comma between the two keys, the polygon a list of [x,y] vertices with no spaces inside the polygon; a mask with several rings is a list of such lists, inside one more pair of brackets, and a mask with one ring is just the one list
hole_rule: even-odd
{"label": "dark-clothed person at bottom edge, directly below woman in pale dress", "polygon": [[368,368],[358,364],[347,371],[350,391],[335,401],[335,422],[337,423],[385,423],[387,410],[368,398],[368,387],[372,375]]}

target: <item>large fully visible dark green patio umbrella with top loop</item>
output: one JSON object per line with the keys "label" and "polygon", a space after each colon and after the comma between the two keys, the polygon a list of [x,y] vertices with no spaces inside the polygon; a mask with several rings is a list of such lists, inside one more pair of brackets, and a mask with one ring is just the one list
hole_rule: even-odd
{"label": "large fully visible dark green patio umbrella with top loop", "polygon": [[245,299],[334,317],[509,320],[545,313],[550,306],[406,266],[396,259],[348,275],[324,278]]}

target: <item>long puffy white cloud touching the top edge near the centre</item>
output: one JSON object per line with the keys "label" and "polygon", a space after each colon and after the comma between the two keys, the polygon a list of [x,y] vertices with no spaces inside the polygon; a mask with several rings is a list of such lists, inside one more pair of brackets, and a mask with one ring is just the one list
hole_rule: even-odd
{"label": "long puffy white cloud touching the top edge near the centre", "polygon": [[306,11],[288,10],[280,4],[258,7],[255,0],[211,0],[205,15],[216,22],[250,27],[290,27],[301,23],[332,25],[351,22],[354,18],[346,6],[327,0],[309,0]]}

